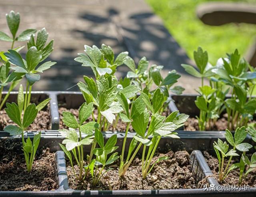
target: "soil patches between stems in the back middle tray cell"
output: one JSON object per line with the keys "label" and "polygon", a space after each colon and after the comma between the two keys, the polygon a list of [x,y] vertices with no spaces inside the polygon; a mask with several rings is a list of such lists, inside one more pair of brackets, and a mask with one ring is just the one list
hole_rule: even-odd
{"label": "soil patches between stems in the back middle tray cell", "polygon": [[[79,114],[79,110],[78,109],[67,109],[65,107],[60,107],[59,108],[59,114],[60,114],[60,129],[63,129],[63,128],[66,128],[68,129],[68,127],[66,127],[66,125],[63,123],[62,121],[62,113],[63,111],[70,111],[72,114],[74,114],[76,116],[76,118],[78,118],[78,114]],[[165,115],[167,116],[169,112],[163,112],[162,115]],[[98,111],[97,110],[94,110],[94,119],[97,121],[97,117],[98,117]],[[93,121],[92,119],[92,115],[88,118],[88,120],[86,120],[86,122],[90,122],[90,121]],[[113,127],[113,125],[115,125],[115,127]],[[123,122],[121,119],[118,119],[118,122],[115,123],[115,120],[113,121],[113,124],[110,124],[110,127],[108,129],[108,131],[119,131],[119,132],[125,132],[126,130],[126,123]],[[132,129],[132,126],[130,125],[129,127],[129,131],[133,131]]]}

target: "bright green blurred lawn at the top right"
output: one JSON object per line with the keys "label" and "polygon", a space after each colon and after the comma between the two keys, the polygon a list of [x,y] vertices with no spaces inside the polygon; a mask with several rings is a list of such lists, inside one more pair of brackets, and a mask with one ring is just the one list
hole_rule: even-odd
{"label": "bright green blurred lawn at the top right", "polygon": [[[209,0],[146,0],[176,41],[186,50],[190,58],[201,46],[208,51],[209,61],[215,64],[218,58],[236,48],[244,54],[256,36],[256,25],[226,24],[208,26],[196,17],[196,7]],[[231,0],[237,2],[238,0]],[[256,0],[239,0],[256,2]]]}

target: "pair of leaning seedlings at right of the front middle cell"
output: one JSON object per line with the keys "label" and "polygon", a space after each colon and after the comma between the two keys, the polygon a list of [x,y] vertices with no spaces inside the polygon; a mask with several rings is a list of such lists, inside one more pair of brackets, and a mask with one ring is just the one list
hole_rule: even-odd
{"label": "pair of leaning seedlings at right of the front middle cell", "polygon": [[[185,114],[178,115],[178,111],[171,113],[168,117],[160,115],[159,110],[164,102],[164,94],[160,92],[159,88],[154,92],[152,101],[153,102],[151,103],[148,95],[142,92],[141,96],[139,96],[134,102],[131,112],[131,119],[132,127],[136,132],[136,135],[130,143],[125,162],[122,159],[124,156],[121,155],[121,165],[119,169],[120,176],[125,175],[134,157],[137,155],[140,147],[143,145],[142,177],[145,179],[156,163],[158,163],[160,160],[167,159],[166,157],[161,157],[150,167],[150,163],[155,154],[156,148],[158,147],[160,139],[162,137],[178,138],[177,133],[173,131],[181,127],[184,121],[186,121],[188,118],[188,115]],[[148,127],[150,116],[151,121]],[[147,127],[148,132],[146,132]],[[150,138],[152,139],[150,140]]]}

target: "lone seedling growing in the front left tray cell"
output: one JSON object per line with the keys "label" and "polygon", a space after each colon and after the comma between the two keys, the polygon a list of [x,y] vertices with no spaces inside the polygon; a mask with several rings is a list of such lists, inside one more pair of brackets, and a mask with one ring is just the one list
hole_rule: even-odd
{"label": "lone seedling growing in the front left tray cell", "polygon": [[17,100],[18,105],[14,102],[6,103],[5,108],[9,118],[17,125],[8,125],[4,128],[4,131],[10,133],[10,135],[22,135],[22,150],[24,151],[27,170],[30,172],[36,155],[36,150],[40,143],[41,133],[39,132],[36,134],[33,138],[33,141],[31,141],[29,137],[25,141],[24,130],[26,130],[26,128],[34,121],[38,111],[43,109],[48,104],[50,99],[46,99],[38,105],[35,105],[34,103],[30,104],[26,107],[25,110],[23,110],[25,102],[23,87],[20,85]]}

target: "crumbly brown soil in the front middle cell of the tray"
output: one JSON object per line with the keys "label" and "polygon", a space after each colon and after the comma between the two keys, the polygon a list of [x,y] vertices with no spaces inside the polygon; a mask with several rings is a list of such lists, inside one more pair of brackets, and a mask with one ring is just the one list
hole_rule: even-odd
{"label": "crumbly brown soil in the front middle cell of the tray", "polygon": [[[113,164],[113,170],[104,174],[97,186],[91,185],[91,177],[80,182],[77,181],[70,165],[67,167],[68,183],[70,188],[76,190],[143,190],[143,189],[194,189],[200,187],[196,184],[195,175],[190,172],[190,163],[187,151],[169,151],[166,154],[158,154],[153,157],[156,161],[159,157],[168,156],[167,160],[157,163],[146,179],[142,179],[141,160],[134,159],[125,176],[118,176],[118,163]],[[74,166],[78,174],[78,166]]]}

